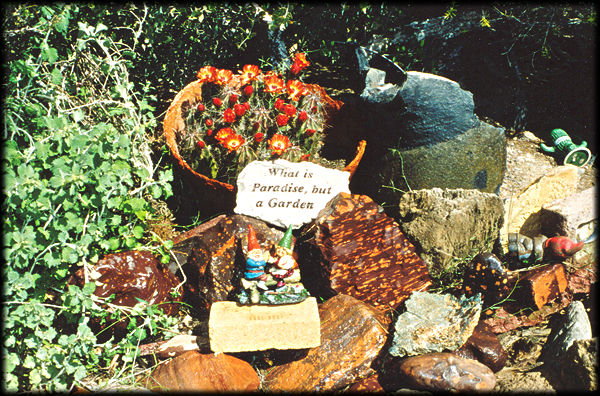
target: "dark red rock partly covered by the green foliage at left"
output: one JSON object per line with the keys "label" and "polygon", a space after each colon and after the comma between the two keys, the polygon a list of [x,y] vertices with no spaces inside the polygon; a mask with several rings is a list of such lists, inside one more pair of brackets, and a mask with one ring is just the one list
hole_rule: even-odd
{"label": "dark red rock partly covered by the green foliage at left", "polygon": [[[108,254],[96,263],[87,276],[86,279],[86,272],[81,268],[69,283],[82,287],[86,282],[95,282],[94,294],[99,297],[114,294],[112,303],[116,305],[133,307],[139,298],[149,305],[160,304],[167,315],[175,315],[179,311],[177,302],[181,301],[181,297],[173,297],[171,292],[180,280],[150,252]],[[128,323],[128,319],[120,320],[113,330],[124,331]]]}

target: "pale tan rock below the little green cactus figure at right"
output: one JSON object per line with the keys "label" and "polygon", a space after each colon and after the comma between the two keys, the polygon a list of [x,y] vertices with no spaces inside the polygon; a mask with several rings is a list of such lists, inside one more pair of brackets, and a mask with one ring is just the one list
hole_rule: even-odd
{"label": "pale tan rock below the little green cactus figure at right", "polygon": [[534,231],[526,233],[521,228],[526,222],[536,223],[530,217],[535,217],[544,205],[574,194],[582,174],[583,169],[575,165],[558,166],[518,194],[507,198],[504,202],[504,225],[500,230],[500,243],[504,250],[507,250],[509,233],[520,232],[533,237]]}

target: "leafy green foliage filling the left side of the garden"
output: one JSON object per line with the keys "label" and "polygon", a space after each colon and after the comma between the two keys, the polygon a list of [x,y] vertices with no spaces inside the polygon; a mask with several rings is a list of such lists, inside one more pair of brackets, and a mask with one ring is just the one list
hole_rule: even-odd
{"label": "leafy green foliage filling the left side of the garden", "polygon": [[[144,247],[149,198],[168,197],[172,179],[150,156],[153,98],[148,84],[129,80],[133,48],[110,37],[107,26],[81,19],[82,9],[22,5],[7,12],[2,209],[9,390],[67,389],[156,334],[157,324],[172,325],[157,307],[135,308],[124,313],[134,322],[128,336],[99,345],[88,324],[109,315],[105,302],[92,295],[93,283],[66,287],[79,266]],[[110,315],[123,312],[113,307]]]}

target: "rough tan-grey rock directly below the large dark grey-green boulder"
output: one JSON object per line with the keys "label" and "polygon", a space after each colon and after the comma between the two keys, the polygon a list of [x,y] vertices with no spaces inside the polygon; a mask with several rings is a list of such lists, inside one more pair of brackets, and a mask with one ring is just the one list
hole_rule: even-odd
{"label": "rough tan-grey rock directly below the large dark grey-green boulder", "polygon": [[456,257],[491,250],[504,216],[497,195],[465,189],[410,191],[398,209],[400,228],[431,276],[451,267]]}

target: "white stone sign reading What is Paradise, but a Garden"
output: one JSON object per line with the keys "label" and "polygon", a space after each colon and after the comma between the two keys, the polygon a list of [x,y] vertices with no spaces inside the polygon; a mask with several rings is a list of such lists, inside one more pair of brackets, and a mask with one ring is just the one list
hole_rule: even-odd
{"label": "white stone sign reading What is Paradise, but a Garden", "polygon": [[299,228],[340,192],[350,193],[350,173],[312,162],[254,161],[238,176],[238,214],[276,226]]}

